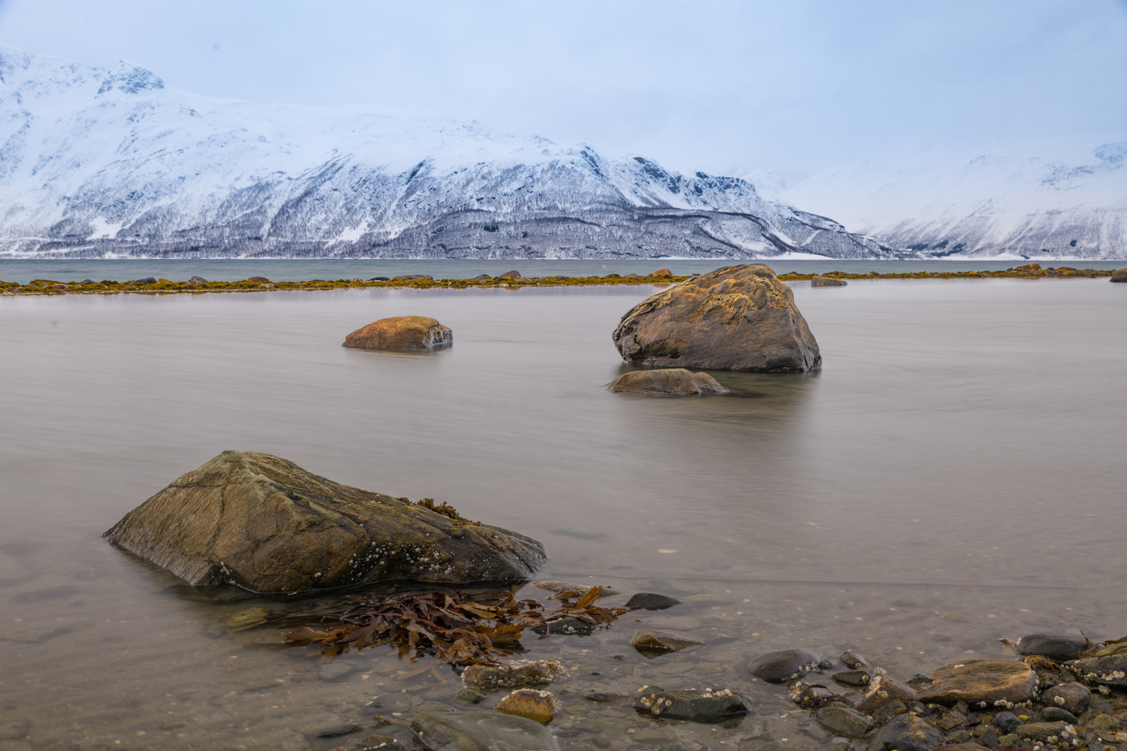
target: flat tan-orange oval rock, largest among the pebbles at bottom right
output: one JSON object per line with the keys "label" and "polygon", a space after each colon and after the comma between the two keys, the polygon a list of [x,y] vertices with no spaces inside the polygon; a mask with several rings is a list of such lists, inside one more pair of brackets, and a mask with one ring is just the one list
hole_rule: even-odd
{"label": "flat tan-orange oval rock, largest among the pebbles at bottom right", "polygon": [[991,706],[1000,699],[1017,704],[1033,698],[1037,687],[1037,676],[1029,665],[1013,660],[960,660],[933,671],[931,677],[932,685],[916,697],[924,704],[986,701]]}

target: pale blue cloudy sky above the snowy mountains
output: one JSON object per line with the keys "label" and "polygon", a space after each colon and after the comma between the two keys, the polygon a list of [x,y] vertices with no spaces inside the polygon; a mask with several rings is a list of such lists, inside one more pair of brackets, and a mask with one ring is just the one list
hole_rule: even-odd
{"label": "pale blue cloudy sky above the snowy mountains", "polygon": [[[793,179],[966,137],[1127,132],[1124,0],[6,0],[0,43],[252,101],[456,115]],[[218,47],[216,47],[218,45]]]}

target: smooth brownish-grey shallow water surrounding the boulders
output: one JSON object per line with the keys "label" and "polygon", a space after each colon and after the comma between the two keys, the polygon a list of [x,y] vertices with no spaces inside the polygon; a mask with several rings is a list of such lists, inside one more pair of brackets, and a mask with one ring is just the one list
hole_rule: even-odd
{"label": "smooth brownish-grey shallow water surrounding the boulders", "polygon": [[[653,287],[0,299],[0,748],[329,749],[307,735],[452,700],[452,673],[400,679],[382,651],[328,681],[309,650],[247,646],[281,641],[223,628],[261,600],[189,597],[100,539],[229,448],[531,535],[543,579],[693,598],[525,637],[575,668],[552,686],[565,746],[649,722],[583,690],[658,681],[756,703],[676,737],[793,744],[784,691],[735,669],[774,649],[857,647],[909,677],[1030,632],[1122,636],[1127,285],[792,286],[824,369],[713,372],[733,395],[692,399],[602,388],[627,367],[611,331]],[[454,346],[339,346],[403,314]],[[637,622],[704,645],[646,660]]]}

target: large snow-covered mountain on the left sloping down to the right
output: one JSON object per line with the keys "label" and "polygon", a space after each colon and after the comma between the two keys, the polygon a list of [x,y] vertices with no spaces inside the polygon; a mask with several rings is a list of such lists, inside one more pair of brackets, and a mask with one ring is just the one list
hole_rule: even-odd
{"label": "large snow-covered mountain on the left sloping down to the right", "polygon": [[0,47],[0,256],[895,258],[736,178]]}

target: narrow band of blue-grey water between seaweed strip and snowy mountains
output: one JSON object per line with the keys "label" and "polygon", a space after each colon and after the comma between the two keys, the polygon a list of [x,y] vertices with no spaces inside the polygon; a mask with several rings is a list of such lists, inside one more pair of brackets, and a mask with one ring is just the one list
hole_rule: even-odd
{"label": "narrow band of blue-grey water between seaweed strip and snowy mountains", "polygon": [[[1037,260],[1036,258],[1032,260]],[[673,260],[656,258],[647,261],[497,261],[497,260],[285,260],[285,259],[199,259],[199,260],[46,260],[0,258],[0,279],[27,284],[32,279],[81,281],[82,279],[137,279],[163,277],[186,281],[202,276],[212,281],[236,281],[250,276],[265,276],[275,281],[304,281],[307,279],[371,279],[376,276],[394,277],[406,274],[426,274],[435,279],[468,279],[479,274],[497,276],[516,269],[524,276],[602,276],[605,274],[649,274],[668,268],[674,274],[704,274],[727,263],[754,261],[730,260]],[[999,271],[1029,261],[764,261],[779,274],[825,274],[846,271],[868,274],[880,271]],[[1127,261],[1046,261],[1042,266],[1071,266],[1085,269],[1117,269]]]}

